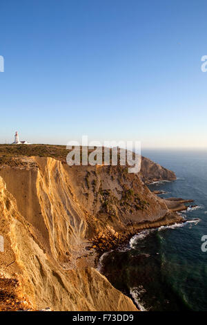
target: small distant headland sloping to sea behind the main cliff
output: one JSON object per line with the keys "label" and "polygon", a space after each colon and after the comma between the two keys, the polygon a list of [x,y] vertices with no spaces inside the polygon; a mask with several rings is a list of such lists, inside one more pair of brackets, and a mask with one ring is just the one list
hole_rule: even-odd
{"label": "small distant headland sloping to sea behind the main cliff", "polygon": [[159,180],[176,180],[176,175],[173,171],[154,163],[146,157],[141,157],[141,171],[139,174],[145,184]]}

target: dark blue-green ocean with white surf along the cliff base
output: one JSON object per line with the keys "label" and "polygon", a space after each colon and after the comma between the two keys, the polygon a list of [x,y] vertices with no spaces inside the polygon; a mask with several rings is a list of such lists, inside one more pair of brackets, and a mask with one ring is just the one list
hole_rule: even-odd
{"label": "dark blue-green ocean with white surf along the cliff base", "polygon": [[[103,254],[99,268],[141,310],[207,310],[207,151],[143,150],[142,155],[175,171],[177,180],[149,185],[161,197],[193,198],[188,221],[144,230],[119,250]],[[194,221],[194,219],[199,219]],[[206,245],[207,247],[207,245]]]}

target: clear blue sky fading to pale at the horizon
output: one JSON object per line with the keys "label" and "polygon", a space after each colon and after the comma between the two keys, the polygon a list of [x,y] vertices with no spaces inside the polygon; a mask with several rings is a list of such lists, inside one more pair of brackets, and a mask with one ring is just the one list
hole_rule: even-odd
{"label": "clear blue sky fading to pale at the horizon", "polygon": [[207,148],[203,0],[1,0],[0,143]]}

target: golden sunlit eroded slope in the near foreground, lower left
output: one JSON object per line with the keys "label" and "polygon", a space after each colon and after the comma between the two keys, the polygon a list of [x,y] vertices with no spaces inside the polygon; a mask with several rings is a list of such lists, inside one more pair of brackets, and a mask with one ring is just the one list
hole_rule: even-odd
{"label": "golden sunlit eroded slope in the near foreground, lower left", "polygon": [[[18,212],[14,197],[1,177],[0,215],[5,243],[0,254],[1,275],[18,281],[18,297],[26,301],[24,309],[49,306],[53,310],[137,310],[128,297],[94,268],[64,270],[39,245],[37,230]],[[6,301],[3,302],[5,305]],[[0,308],[1,303],[0,299]]]}

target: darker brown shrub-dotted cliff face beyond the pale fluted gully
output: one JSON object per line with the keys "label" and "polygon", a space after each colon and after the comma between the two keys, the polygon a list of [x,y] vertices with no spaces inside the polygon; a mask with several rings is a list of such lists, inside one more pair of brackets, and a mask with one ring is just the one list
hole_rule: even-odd
{"label": "darker brown shrub-dotted cliff face beyond the pale fluted gully", "polygon": [[107,229],[135,232],[136,229],[166,224],[174,219],[161,199],[144,186],[139,175],[128,174],[126,167],[68,167],[72,191],[86,210],[88,236]]}

